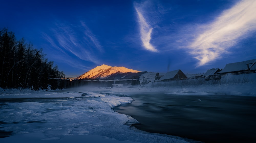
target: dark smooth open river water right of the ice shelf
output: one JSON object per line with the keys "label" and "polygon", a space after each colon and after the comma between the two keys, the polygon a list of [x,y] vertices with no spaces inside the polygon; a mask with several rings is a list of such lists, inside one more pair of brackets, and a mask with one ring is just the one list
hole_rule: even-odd
{"label": "dark smooth open river water right of the ice shelf", "polygon": [[256,97],[132,94],[114,108],[132,116],[136,128],[203,142],[256,142]]}

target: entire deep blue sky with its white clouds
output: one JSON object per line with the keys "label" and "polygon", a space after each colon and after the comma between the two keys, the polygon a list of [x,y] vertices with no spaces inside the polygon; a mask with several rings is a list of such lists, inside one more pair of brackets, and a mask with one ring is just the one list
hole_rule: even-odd
{"label": "entire deep blue sky with its white clouds", "polygon": [[256,59],[254,0],[0,0],[0,28],[42,48],[66,77],[102,64],[205,73]]}

